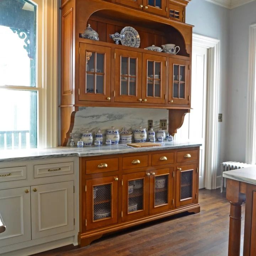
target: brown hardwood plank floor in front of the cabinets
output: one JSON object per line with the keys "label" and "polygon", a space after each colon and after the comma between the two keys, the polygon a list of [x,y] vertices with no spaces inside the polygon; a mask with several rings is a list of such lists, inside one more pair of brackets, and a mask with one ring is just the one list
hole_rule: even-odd
{"label": "brown hardwood plank floor in front of the cabinets", "polygon": [[199,203],[198,214],[182,213],[105,235],[87,247],[64,246],[34,256],[227,256],[230,204],[225,194],[200,190]]}

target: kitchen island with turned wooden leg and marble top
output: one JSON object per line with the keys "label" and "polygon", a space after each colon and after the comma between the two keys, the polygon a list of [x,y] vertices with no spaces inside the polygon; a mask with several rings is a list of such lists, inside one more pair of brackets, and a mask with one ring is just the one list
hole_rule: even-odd
{"label": "kitchen island with turned wooden leg and marble top", "polygon": [[241,205],[245,202],[244,256],[256,255],[256,167],[226,171],[226,198],[230,201],[229,256],[240,255]]}

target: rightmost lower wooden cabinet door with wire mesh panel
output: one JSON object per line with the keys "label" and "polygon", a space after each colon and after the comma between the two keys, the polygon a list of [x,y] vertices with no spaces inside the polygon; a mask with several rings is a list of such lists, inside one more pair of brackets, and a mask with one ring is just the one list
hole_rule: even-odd
{"label": "rightmost lower wooden cabinet door with wire mesh panel", "polygon": [[176,207],[197,202],[197,164],[177,166]]}

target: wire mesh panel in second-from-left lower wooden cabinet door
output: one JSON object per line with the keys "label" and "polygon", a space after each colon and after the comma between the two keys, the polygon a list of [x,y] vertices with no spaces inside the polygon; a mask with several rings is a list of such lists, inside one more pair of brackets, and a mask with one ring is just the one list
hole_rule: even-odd
{"label": "wire mesh panel in second-from-left lower wooden cabinet door", "polygon": [[144,179],[128,181],[128,213],[143,210]]}

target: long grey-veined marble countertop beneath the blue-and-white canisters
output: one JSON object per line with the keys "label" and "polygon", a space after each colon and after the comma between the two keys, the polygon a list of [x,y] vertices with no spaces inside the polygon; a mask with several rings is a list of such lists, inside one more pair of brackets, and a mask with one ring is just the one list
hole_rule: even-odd
{"label": "long grey-veined marble countertop beneath the blue-and-white canisters", "polygon": [[20,149],[20,150],[0,150],[0,162],[14,161],[14,160],[33,160],[33,159],[45,159],[55,157],[67,157],[67,156],[98,156],[98,155],[112,155],[112,154],[124,154],[135,153],[143,151],[153,150],[165,150],[176,148],[190,148],[195,146],[201,146],[200,143],[193,142],[164,142],[162,146],[147,147],[147,148],[132,148],[124,144],[117,144],[111,146],[88,146],[84,148],[76,147],[57,147],[46,149]]}

